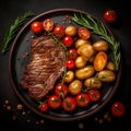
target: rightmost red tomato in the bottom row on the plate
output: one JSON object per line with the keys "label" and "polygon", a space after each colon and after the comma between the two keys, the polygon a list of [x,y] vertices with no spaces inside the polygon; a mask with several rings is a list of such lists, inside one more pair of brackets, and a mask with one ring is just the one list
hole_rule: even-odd
{"label": "rightmost red tomato in the bottom row on the plate", "polygon": [[100,99],[100,92],[98,90],[91,90],[88,92],[90,99],[93,102],[97,102]]}

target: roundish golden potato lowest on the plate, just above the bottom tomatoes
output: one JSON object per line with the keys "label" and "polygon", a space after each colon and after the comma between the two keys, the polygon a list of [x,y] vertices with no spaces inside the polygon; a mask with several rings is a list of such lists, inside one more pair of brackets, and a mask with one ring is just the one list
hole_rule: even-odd
{"label": "roundish golden potato lowest on the plate, just above the bottom tomatoes", "polygon": [[69,92],[72,95],[78,95],[82,91],[82,82],[80,80],[74,80],[69,85]]}

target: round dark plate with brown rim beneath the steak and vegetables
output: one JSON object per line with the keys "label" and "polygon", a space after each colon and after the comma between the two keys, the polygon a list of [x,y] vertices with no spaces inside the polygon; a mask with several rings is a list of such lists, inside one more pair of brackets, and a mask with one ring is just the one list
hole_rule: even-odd
{"label": "round dark plate with brown rim beneath the steak and vegetables", "polygon": [[[33,35],[33,32],[29,28],[31,23],[33,21],[41,21],[43,22],[44,20],[50,17],[53,21],[57,21],[58,24],[62,24],[63,16],[66,16],[66,15],[73,16],[74,12],[87,14],[87,12],[75,10],[75,9],[57,9],[57,10],[44,12],[44,13],[35,16],[29,22],[27,22],[25,24],[25,26],[23,26],[22,29],[19,32],[19,34],[16,35],[16,37],[13,41],[13,45],[12,45],[11,51],[10,51],[9,72],[10,72],[11,84],[12,84],[14,92],[16,93],[19,98],[22,100],[22,103],[24,103],[33,112],[35,112],[36,115],[38,115],[40,117],[51,119],[51,120],[72,121],[72,120],[78,120],[78,119],[82,119],[85,117],[90,117],[91,115],[97,112],[114,96],[114,94],[118,87],[119,80],[120,80],[121,64],[120,64],[120,69],[117,72],[116,81],[111,84],[105,85],[106,87],[103,87],[102,99],[98,103],[92,104],[87,108],[83,108],[83,109],[78,108],[72,114],[64,112],[63,110],[51,110],[51,109],[49,109],[49,111],[47,111],[47,112],[40,112],[38,110],[38,105],[33,99],[31,99],[27,92],[22,88],[21,81],[22,81],[22,78],[25,72],[25,67],[29,60],[29,57],[26,57],[24,59],[23,56],[26,52],[31,52],[31,41],[29,40],[27,41],[27,38],[31,38]],[[97,19],[97,21],[99,21],[99,20]],[[80,26],[80,25],[76,25],[76,26]],[[109,28],[106,27],[106,29],[109,33],[111,33]]]}

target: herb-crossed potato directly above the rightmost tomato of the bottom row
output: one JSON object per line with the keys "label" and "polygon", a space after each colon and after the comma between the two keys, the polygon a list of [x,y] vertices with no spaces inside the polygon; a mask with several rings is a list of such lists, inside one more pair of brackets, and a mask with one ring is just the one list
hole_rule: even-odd
{"label": "herb-crossed potato directly above the rightmost tomato of the bottom row", "polygon": [[84,85],[87,87],[87,88],[100,88],[102,87],[102,81],[98,81],[95,76],[93,78],[90,78],[90,79],[86,79],[84,81]]}

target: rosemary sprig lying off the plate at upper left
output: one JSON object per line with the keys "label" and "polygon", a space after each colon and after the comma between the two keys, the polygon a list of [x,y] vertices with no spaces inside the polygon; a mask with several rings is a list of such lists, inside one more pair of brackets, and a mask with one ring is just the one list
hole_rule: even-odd
{"label": "rosemary sprig lying off the plate at upper left", "polygon": [[1,50],[2,53],[9,50],[9,46],[11,45],[11,41],[14,39],[16,33],[32,16],[34,16],[34,13],[28,11],[15,19],[14,23],[10,26],[3,38]]}

